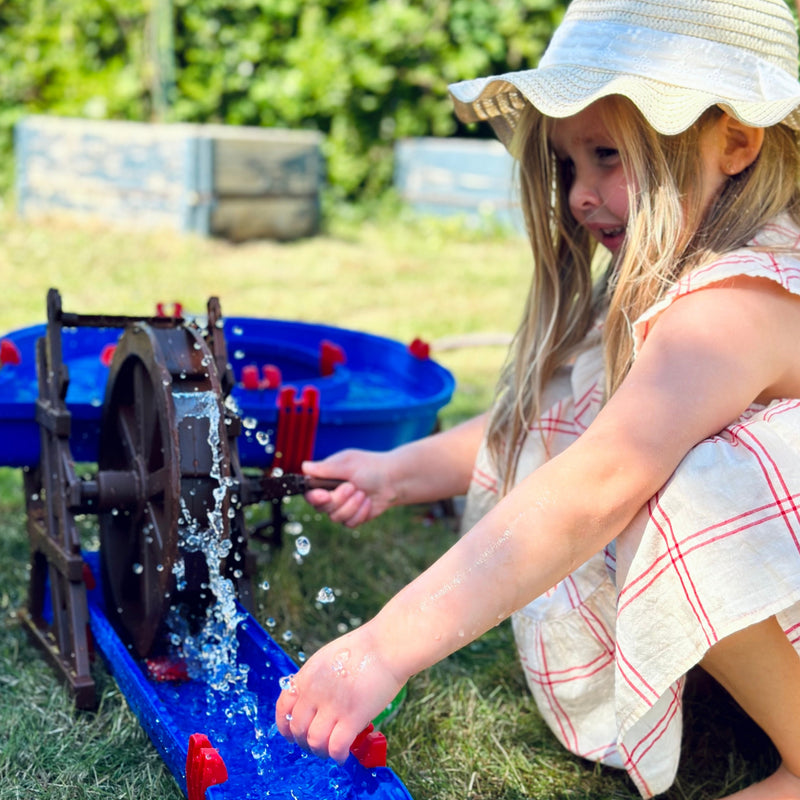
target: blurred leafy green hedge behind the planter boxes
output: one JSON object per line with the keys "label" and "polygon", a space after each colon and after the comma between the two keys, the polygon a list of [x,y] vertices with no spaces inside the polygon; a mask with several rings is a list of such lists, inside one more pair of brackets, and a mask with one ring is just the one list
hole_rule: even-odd
{"label": "blurred leafy green hedge behind the planter boxes", "polygon": [[535,64],[564,5],[3,0],[0,181],[14,122],[52,113],[320,130],[336,195],[374,197],[397,138],[457,130],[447,84]]}

